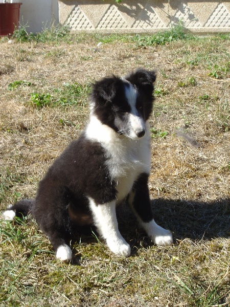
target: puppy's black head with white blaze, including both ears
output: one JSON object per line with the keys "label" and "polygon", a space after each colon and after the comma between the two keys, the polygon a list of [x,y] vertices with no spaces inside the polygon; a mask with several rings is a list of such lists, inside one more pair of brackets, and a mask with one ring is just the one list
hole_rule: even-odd
{"label": "puppy's black head with white blaze, including both ears", "polygon": [[155,79],[155,72],[145,69],[136,69],[122,78],[103,78],[93,85],[91,111],[118,134],[142,138],[152,112]]}

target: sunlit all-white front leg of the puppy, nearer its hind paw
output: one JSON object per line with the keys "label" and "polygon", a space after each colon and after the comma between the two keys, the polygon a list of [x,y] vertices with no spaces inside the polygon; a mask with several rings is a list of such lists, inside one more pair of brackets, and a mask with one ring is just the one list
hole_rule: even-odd
{"label": "sunlit all-white front leg of the puppy, nearer its hind paw", "polygon": [[109,249],[118,256],[130,256],[131,248],[118,230],[116,201],[96,205],[93,199],[88,199],[91,211],[93,212],[95,225],[101,236],[106,240]]}

